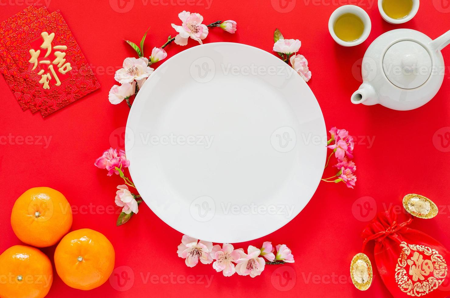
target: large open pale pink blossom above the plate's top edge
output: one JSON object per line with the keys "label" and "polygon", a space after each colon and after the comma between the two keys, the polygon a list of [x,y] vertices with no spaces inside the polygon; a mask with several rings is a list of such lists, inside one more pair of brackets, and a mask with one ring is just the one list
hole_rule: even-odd
{"label": "large open pale pink blossom above the plate's top edge", "polygon": [[208,27],[203,22],[203,17],[200,14],[191,14],[189,11],[183,11],[178,14],[181,22],[181,26],[172,24],[172,27],[178,32],[175,36],[175,44],[187,45],[189,37],[198,43],[203,44],[203,39],[208,35]]}

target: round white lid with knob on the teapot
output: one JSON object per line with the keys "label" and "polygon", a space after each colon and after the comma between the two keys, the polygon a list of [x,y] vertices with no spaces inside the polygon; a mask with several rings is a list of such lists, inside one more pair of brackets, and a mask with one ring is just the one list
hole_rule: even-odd
{"label": "round white lid with knob on the teapot", "polygon": [[428,51],[417,42],[400,41],[387,50],[383,69],[395,86],[414,89],[422,86],[430,77],[432,60]]}

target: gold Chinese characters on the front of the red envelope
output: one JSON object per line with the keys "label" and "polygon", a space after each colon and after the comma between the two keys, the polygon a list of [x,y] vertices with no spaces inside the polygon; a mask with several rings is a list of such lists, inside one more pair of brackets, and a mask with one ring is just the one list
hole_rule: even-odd
{"label": "gold Chinese characters on the front of the red envelope", "polygon": [[[69,72],[72,70],[70,63],[66,62],[66,53],[63,52],[67,50],[67,46],[52,46],[54,33],[42,32],[40,36],[41,38],[32,41],[30,44],[31,59],[28,62],[33,64],[31,70],[33,71],[38,65],[40,66],[40,71],[37,74],[41,76],[39,83],[42,84],[44,89],[50,89],[50,85],[61,86],[61,83],[70,77]],[[50,55],[52,50],[55,51],[53,55]],[[45,55],[41,57],[44,52]]]}

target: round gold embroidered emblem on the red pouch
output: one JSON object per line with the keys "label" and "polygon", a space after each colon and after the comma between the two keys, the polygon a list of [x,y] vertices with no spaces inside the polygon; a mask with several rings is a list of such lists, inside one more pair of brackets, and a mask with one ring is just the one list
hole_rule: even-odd
{"label": "round gold embroidered emblem on the red pouch", "polygon": [[396,264],[398,287],[410,296],[420,297],[437,289],[447,276],[447,263],[435,249],[428,246],[400,244]]}

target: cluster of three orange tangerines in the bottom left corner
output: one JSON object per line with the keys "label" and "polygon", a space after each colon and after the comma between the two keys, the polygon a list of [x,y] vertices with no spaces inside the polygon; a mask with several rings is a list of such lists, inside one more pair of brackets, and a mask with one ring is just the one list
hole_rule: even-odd
{"label": "cluster of three orange tangerines in the bottom left corner", "polygon": [[[22,242],[38,248],[59,241],[54,253],[56,272],[72,288],[94,289],[111,275],[115,258],[111,242],[90,229],[67,234],[72,209],[57,190],[36,187],[23,193],[14,203],[11,226]],[[0,255],[0,278],[1,298],[42,298],[50,290],[53,269],[39,249],[14,245]]]}

